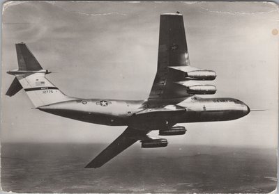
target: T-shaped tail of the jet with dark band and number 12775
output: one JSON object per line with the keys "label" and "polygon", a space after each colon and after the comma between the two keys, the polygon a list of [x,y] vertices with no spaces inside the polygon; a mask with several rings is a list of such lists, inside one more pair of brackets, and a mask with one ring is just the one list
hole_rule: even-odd
{"label": "T-shaped tail of the jet with dark band and number 12775", "polygon": [[23,88],[36,108],[73,99],[45,78],[45,75],[50,72],[43,70],[27,45],[21,42],[15,44],[15,48],[17,50],[18,70],[7,72],[14,75],[15,79],[8,88],[6,95],[11,97]]}

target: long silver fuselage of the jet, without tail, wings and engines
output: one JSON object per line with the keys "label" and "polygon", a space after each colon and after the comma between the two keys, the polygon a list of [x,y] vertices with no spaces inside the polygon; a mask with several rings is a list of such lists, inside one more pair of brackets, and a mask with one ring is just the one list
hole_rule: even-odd
{"label": "long silver fuselage of the jet, without tail, wings and engines", "polygon": [[150,130],[157,130],[158,123],[162,123],[159,126],[162,130],[176,123],[235,120],[250,112],[246,104],[232,98],[193,96],[174,105],[166,102],[161,108],[152,108],[145,103],[141,100],[75,99],[38,109],[84,122]]}

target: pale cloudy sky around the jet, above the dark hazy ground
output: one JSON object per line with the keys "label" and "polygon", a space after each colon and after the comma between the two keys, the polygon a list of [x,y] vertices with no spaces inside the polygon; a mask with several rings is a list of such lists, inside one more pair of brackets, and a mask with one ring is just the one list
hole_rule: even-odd
{"label": "pale cloudy sky around the jet, above the dark hazy ground", "polygon": [[[160,14],[181,12],[190,64],[217,73],[216,95],[251,109],[227,122],[182,124],[169,143],[277,147],[278,6],[264,2],[13,1],[3,6],[1,141],[111,143],[126,127],[89,124],[32,109],[22,90],[5,96],[24,41],[69,96],[146,99],[156,74]],[[157,136],[158,131],[151,135]],[[140,146],[140,145],[138,145]]]}

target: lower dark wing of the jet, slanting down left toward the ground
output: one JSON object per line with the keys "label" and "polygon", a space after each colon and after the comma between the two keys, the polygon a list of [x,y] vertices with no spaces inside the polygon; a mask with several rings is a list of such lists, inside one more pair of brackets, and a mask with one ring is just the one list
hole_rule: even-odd
{"label": "lower dark wing of the jet, slanting down left toward the ground", "polygon": [[140,131],[132,127],[128,127],[112,144],[100,152],[93,161],[86,165],[85,168],[99,168],[115,156],[123,152],[125,149],[133,145],[137,140],[146,138],[149,131]]}

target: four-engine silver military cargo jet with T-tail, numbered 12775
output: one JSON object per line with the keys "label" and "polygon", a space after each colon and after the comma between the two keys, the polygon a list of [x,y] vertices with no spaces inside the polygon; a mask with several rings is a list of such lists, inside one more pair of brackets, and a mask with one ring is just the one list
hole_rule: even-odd
{"label": "four-engine silver military cargo jet with T-tail, numbered 12775", "polygon": [[202,81],[216,79],[216,72],[190,66],[180,13],[160,15],[158,69],[145,100],[68,97],[45,77],[50,72],[43,70],[24,42],[15,47],[18,70],[7,72],[15,79],[6,95],[13,96],[23,88],[40,111],[84,122],[128,126],[86,168],[99,168],[138,140],[144,148],[166,147],[167,139],[147,135],[152,130],[158,130],[159,136],[183,135],[185,127],[176,124],[236,120],[250,112],[238,99],[196,96],[215,94],[216,87]]}

